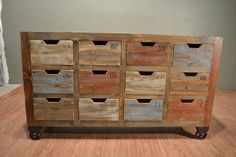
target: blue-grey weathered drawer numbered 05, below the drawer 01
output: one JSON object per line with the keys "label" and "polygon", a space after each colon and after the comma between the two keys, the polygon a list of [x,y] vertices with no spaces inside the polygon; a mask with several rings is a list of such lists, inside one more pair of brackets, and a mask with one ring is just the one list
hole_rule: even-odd
{"label": "blue-grey weathered drawer numbered 05, below the drawer 01", "polygon": [[32,70],[34,93],[73,93],[73,70]]}

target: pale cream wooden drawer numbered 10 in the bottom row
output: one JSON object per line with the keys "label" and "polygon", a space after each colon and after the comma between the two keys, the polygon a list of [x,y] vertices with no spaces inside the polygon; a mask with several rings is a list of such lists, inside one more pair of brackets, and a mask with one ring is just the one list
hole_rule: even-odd
{"label": "pale cream wooden drawer numbered 10 in the bottom row", "polygon": [[119,120],[119,99],[113,98],[80,98],[80,120]]}

